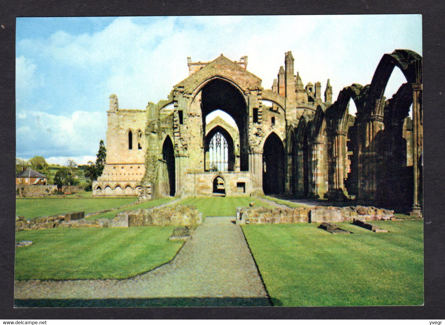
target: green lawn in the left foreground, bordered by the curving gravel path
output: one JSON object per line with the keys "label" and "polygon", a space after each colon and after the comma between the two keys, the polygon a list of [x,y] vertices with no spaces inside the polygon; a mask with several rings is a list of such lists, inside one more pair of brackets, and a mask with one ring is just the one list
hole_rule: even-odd
{"label": "green lawn in the left foreground, bordered by the curving gravel path", "polygon": [[[170,242],[174,226],[27,230],[16,240],[16,280],[126,278],[173,259],[183,242]],[[125,266],[125,267],[123,267]]]}

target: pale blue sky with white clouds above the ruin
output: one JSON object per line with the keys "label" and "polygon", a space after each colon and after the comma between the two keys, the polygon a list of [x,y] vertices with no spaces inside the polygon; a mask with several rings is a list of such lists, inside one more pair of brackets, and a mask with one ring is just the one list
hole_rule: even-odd
{"label": "pale blue sky with white clouds above the ruin", "polygon": [[[58,164],[95,159],[110,94],[120,108],[166,99],[188,76],[188,56],[247,55],[270,88],[291,50],[303,83],[324,92],[330,78],[335,100],[370,83],[384,53],[422,55],[420,15],[17,18],[16,27],[16,156]],[[385,95],[403,82],[396,68]]]}

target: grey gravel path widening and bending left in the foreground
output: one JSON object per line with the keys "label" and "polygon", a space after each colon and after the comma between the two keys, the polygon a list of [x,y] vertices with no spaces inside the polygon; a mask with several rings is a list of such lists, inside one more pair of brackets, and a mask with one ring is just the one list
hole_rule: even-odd
{"label": "grey gravel path widening and bending left in the foreground", "polygon": [[15,281],[16,299],[247,298],[267,293],[233,217],[206,218],[168,264],[126,280]]}

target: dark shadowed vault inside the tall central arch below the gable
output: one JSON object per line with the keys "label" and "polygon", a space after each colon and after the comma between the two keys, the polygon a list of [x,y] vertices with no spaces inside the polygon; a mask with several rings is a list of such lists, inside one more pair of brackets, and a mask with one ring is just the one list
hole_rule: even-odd
{"label": "dark shadowed vault inside the tall central arch below the gable", "polygon": [[[216,110],[226,112],[235,120],[236,126],[239,130],[240,170],[248,171],[249,157],[247,152],[247,134],[249,113],[247,110],[247,103],[243,94],[237,87],[221,78],[214,78],[202,87],[201,111],[203,130],[206,129],[206,116]],[[204,143],[206,143],[205,133],[206,132],[203,132]],[[228,140],[227,137],[226,140]],[[206,165],[207,164],[205,164],[205,166]]]}

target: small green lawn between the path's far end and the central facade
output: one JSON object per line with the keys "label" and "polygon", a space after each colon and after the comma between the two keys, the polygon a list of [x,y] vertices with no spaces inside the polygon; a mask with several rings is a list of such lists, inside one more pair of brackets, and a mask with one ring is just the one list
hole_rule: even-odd
{"label": "small green lawn between the path's far end and the central facade", "polygon": [[206,217],[235,216],[236,208],[249,206],[252,201],[256,206],[267,206],[266,203],[253,197],[189,197],[178,204],[196,206],[204,219]]}

